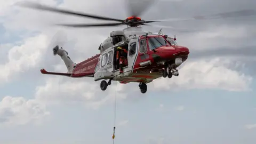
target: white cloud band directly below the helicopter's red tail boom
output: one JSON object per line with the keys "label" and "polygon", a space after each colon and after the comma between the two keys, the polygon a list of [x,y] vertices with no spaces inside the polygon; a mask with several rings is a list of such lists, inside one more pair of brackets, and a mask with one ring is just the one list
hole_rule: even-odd
{"label": "white cloud band directly below the helicopter's red tail boom", "polygon": [[[36,99],[47,104],[66,102],[84,103],[90,108],[99,108],[107,102],[114,102],[117,89],[117,100],[126,99],[124,84],[112,82],[106,91],[100,89],[100,82],[94,82],[92,78],[46,78],[45,85],[38,86]],[[133,90],[131,89],[130,92]],[[138,90],[139,91],[139,90]]]}

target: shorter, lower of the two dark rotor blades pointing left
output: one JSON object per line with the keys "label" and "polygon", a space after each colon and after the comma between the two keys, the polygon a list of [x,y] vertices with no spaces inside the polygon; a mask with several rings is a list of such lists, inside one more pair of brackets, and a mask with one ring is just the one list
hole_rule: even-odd
{"label": "shorter, lower of the two dark rotor blades pointing left", "polygon": [[109,27],[109,26],[119,26],[123,23],[92,23],[92,24],[57,24],[59,26],[65,26],[65,27]]}

